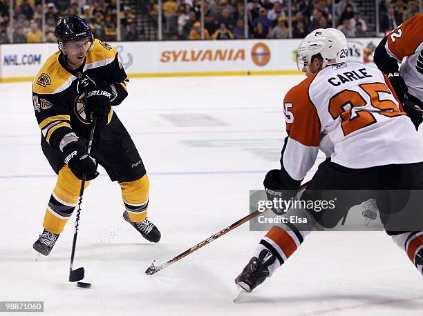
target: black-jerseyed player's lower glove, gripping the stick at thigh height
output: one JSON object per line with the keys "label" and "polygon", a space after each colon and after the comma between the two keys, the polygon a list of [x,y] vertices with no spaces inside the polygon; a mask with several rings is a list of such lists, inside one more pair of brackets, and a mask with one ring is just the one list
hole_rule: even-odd
{"label": "black-jerseyed player's lower glove, gripping the stick at thigh height", "polygon": [[97,172],[97,161],[88,155],[86,151],[87,141],[85,139],[78,139],[71,141],[64,146],[63,152],[66,155],[65,164],[71,168],[72,173],[79,180],[82,180],[82,175],[86,172],[86,180],[95,179],[99,173]]}

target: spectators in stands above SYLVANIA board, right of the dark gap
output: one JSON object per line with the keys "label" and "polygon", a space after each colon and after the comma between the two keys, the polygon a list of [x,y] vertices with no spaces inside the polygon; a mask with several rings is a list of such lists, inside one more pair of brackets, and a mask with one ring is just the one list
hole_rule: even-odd
{"label": "spectators in stands above SYLVANIA board, right of the dark gap", "polygon": [[[373,1],[375,0],[368,0]],[[393,30],[419,12],[418,0],[377,0],[381,34]],[[362,2],[362,1],[361,1]],[[303,38],[317,28],[336,28],[346,37],[375,36],[353,0],[205,0],[205,39]],[[157,1],[151,0],[151,14],[158,17]],[[201,39],[201,1],[165,0],[162,4],[165,39]],[[292,29],[288,17],[292,16]],[[245,17],[245,14],[247,17]],[[246,18],[246,19],[245,19]],[[245,21],[247,27],[245,30]]]}

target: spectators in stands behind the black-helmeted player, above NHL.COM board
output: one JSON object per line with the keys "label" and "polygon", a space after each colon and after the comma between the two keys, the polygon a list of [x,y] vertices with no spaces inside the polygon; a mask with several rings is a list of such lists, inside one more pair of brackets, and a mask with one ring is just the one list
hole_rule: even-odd
{"label": "spectators in stands behind the black-helmeted player, above NHL.COM board", "polygon": [[[10,29],[9,1],[0,0],[0,43],[39,43],[43,41],[41,0],[14,0],[12,29]],[[79,14],[91,26],[95,37],[103,41],[117,39],[116,0],[46,0],[45,41],[56,42],[55,24],[60,17]],[[136,41],[135,19],[131,8],[120,12],[122,41]]]}

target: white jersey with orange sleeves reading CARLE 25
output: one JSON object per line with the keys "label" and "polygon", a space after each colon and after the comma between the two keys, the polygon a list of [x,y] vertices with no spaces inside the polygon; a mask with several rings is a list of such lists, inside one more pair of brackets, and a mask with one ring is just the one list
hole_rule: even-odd
{"label": "white jersey with orange sleeves reading CARLE 25", "polygon": [[354,169],[423,161],[423,144],[393,91],[382,72],[361,63],[328,66],[303,80],[284,99],[283,168],[303,179],[319,149]]}

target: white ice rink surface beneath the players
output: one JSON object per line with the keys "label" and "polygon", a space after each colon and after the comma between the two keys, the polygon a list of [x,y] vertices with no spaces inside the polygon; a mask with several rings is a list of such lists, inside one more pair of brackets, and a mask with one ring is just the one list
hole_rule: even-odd
{"label": "white ice rink surface beneath the players", "polygon": [[75,216],[36,260],[55,174],[39,146],[30,83],[0,84],[0,301],[44,301],[45,315],[423,315],[422,277],[383,232],[313,233],[237,304],[234,278],[264,235],[247,224],[144,274],[153,259],[247,215],[249,190],[279,168],[283,96],[301,79],[132,79],[115,112],[149,172],[149,218],[162,240],[149,244],[123,220],[120,187],[100,170],[84,194],[74,264],[91,289],[67,281]]}

